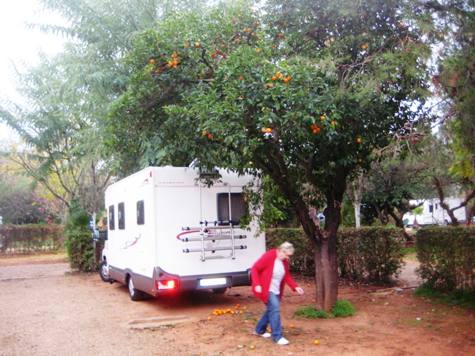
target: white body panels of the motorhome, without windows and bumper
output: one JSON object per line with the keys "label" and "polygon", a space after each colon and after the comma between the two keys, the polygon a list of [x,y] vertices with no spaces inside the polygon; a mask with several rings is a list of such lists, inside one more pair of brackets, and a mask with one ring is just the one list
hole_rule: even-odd
{"label": "white body panels of the motorhome, without windows and bumper", "polygon": [[[265,237],[263,233],[258,233],[255,221],[246,230],[234,227],[234,236],[245,236],[235,239],[234,258],[231,257],[231,250],[219,250],[232,245],[228,239],[229,226],[227,234],[219,229],[213,230],[221,233],[222,240],[206,237],[204,247],[210,251],[206,251],[203,258],[198,230],[204,225],[200,225],[200,221],[217,221],[218,194],[242,193],[243,187],[254,179],[224,170],[220,174],[221,179],[207,187],[199,183],[197,169],[149,167],[112,184],[106,190],[106,209],[114,206],[115,228],[108,231],[103,256],[111,269],[124,275],[119,281],[124,282],[128,275],[155,280],[157,275],[154,273],[158,270],[180,278],[205,278],[206,275],[230,273],[231,281],[232,273],[246,272],[251,268],[265,251]],[[138,201],[144,202],[143,225],[137,224]],[[124,229],[119,229],[119,203],[124,203],[125,208]],[[186,227],[192,229],[183,230]],[[184,242],[182,237],[198,238],[200,241]],[[245,249],[241,249],[243,246]],[[218,250],[211,251],[214,248]],[[200,251],[184,252],[187,249]],[[240,276],[242,280],[242,273]],[[117,277],[114,279],[117,280]],[[189,280],[187,283],[189,286]],[[147,292],[150,290],[147,289]]]}

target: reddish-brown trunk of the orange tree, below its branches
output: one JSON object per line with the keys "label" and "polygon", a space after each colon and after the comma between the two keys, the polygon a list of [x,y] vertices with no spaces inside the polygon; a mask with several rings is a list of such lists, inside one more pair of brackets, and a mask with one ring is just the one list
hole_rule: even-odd
{"label": "reddish-brown trunk of the orange tree, below its branches", "polygon": [[315,247],[316,309],[330,311],[338,295],[336,235]]}

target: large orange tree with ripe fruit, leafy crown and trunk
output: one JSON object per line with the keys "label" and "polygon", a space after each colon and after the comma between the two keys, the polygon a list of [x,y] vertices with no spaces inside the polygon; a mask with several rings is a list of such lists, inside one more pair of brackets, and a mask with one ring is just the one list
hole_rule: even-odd
{"label": "large orange tree with ripe fruit, leafy crown and trunk", "polygon": [[142,165],[198,158],[270,177],[314,246],[328,310],[346,182],[426,94],[428,50],[405,5],[269,1],[264,16],[234,3],[170,17],[136,38],[110,144],[139,145]]}

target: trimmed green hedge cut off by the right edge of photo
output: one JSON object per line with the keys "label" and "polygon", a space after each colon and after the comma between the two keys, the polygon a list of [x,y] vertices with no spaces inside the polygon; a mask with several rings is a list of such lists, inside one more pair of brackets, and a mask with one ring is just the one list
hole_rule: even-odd
{"label": "trimmed green hedge cut off by the right edge of photo", "polygon": [[416,234],[419,274],[443,291],[475,292],[475,228],[433,227]]}

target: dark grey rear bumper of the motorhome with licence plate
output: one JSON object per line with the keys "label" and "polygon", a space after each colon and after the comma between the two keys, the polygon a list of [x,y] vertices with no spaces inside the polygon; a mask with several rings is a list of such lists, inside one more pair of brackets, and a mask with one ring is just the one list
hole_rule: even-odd
{"label": "dark grey rear bumper of the motorhome with licence plate", "polygon": [[[191,291],[199,289],[215,289],[215,288],[229,288],[236,286],[249,286],[251,285],[250,270],[240,272],[229,273],[213,273],[213,274],[200,274],[193,276],[178,276],[171,273],[167,273],[160,267],[155,268],[156,280],[170,280],[173,279],[178,282],[179,291]],[[223,284],[218,285],[202,285],[202,280],[210,279],[222,279]],[[161,294],[162,291],[156,290],[157,294]],[[166,292],[166,291],[164,291]]]}

